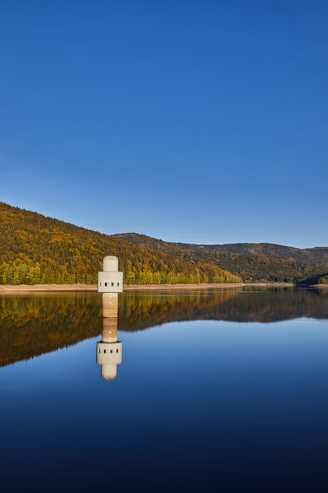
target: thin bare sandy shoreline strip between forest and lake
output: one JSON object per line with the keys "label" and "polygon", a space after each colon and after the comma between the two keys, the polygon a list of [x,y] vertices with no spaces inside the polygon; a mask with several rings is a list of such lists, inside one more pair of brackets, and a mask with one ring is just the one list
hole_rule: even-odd
{"label": "thin bare sandy shoreline strip between forest and lake", "polygon": [[[201,283],[201,284],[124,284],[124,291],[172,291],[172,290],[197,290],[208,288],[244,288],[245,286],[294,288],[294,283],[268,282],[268,283]],[[303,288],[328,288],[328,284],[312,284],[301,286]],[[97,291],[96,284],[13,284],[0,285],[0,294],[16,294],[24,292],[68,292],[68,291]]]}

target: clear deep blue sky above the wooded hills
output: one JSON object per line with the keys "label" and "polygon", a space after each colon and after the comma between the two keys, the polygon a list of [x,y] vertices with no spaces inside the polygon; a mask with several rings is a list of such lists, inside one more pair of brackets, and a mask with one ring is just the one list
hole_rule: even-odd
{"label": "clear deep blue sky above the wooded hills", "polygon": [[0,1],[0,199],[105,233],[328,245],[327,1]]}

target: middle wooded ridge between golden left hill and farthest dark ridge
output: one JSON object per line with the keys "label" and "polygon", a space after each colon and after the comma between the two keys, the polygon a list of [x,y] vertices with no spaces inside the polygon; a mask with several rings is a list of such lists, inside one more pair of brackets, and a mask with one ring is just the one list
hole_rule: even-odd
{"label": "middle wooded ridge between golden left hill and farthest dark ridge", "polygon": [[[275,257],[274,255],[268,257],[251,253],[242,255],[241,253],[228,251],[222,252],[215,249],[214,245],[165,242],[137,233],[119,234],[115,235],[115,238],[132,242],[139,245],[139,247],[163,251],[186,260],[210,263],[219,268],[229,270],[247,282],[284,281],[301,283],[314,277],[322,277],[327,272],[327,269],[325,269],[325,273],[323,273],[323,266],[310,262],[299,262],[292,258]],[[220,245],[217,247],[220,247]],[[288,249],[289,247],[282,248]]]}

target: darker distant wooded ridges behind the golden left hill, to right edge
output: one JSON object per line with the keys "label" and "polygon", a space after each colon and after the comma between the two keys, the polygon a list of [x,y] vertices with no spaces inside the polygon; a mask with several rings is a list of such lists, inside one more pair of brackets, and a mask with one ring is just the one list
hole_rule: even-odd
{"label": "darker distant wooded ridges behind the golden left hill, to right edge", "polygon": [[[113,237],[133,242],[140,247],[225,268],[241,276],[244,281],[306,282],[308,279],[317,279],[318,282],[327,282],[328,279],[328,248],[301,250],[269,243],[199,245],[165,242],[138,233],[124,233]],[[303,253],[305,257],[302,258],[311,257],[311,262],[299,260]]]}

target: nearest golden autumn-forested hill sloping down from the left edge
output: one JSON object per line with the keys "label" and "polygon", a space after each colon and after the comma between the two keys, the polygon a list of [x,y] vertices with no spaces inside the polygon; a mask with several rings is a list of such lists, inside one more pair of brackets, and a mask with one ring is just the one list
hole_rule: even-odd
{"label": "nearest golden autumn-forested hill sloping down from the left edge", "polygon": [[0,283],[96,283],[117,255],[125,283],[238,282],[226,269],[141,247],[0,202]]}

